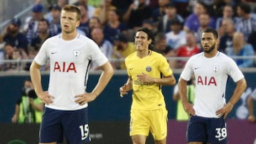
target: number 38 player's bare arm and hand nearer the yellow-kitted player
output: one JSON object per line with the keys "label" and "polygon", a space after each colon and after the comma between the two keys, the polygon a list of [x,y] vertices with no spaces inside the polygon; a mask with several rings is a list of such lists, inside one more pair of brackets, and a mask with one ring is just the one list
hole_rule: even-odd
{"label": "number 38 player's bare arm and hand nearer the yellow-kitted player", "polygon": [[193,105],[188,102],[187,94],[188,81],[185,79],[178,79],[178,94],[181,98],[183,109],[188,113],[189,116],[196,116],[196,111],[193,109]]}

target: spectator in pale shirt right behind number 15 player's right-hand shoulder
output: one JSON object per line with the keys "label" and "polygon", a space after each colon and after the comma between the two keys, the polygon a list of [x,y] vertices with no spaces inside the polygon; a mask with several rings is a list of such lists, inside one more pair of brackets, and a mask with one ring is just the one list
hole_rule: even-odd
{"label": "spectator in pale shirt right behind number 15 player's right-hand shoulder", "polygon": [[[113,45],[110,43],[109,40],[106,40],[104,37],[104,33],[102,31],[102,28],[93,28],[92,29],[92,40],[97,43],[97,45],[100,47],[100,50],[102,50],[103,54],[107,57],[107,59],[110,60],[112,56],[113,51]],[[98,67],[92,63],[92,70],[97,70]]]}

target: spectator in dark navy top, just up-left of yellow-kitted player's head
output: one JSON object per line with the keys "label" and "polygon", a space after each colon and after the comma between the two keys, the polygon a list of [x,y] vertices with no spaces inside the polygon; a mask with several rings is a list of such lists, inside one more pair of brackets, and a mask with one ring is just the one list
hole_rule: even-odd
{"label": "spectator in dark navy top, just up-left of yellow-kitted player's head", "polygon": [[120,21],[119,11],[116,9],[110,10],[108,12],[108,21],[104,26],[105,39],[109,40],[112,44],[114,43],[113,37],[118,33],[127,34],[127,25]]}

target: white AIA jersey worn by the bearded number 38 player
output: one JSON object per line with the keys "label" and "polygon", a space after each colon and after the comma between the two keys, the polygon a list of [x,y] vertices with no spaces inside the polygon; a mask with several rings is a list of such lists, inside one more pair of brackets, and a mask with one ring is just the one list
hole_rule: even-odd
{"label": "white AIA jersey worn by the bearded number 38 player", "polygon": [[197,116],[218,118],[216,111],[225,104],[228,77],[238,82],[244,77],[235,61],[222,52],[215,57],[204,57],[203,52],[193,55],[181,73],[181,78],[191,79],[195,74],[196,97],[193,108]]}

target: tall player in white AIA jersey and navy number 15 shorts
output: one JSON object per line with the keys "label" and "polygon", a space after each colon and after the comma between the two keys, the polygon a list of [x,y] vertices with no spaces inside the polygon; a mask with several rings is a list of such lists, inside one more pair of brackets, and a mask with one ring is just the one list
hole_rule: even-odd
{"label": "tall player in white AIA jersey and navy number 15 shorts", "polygon": [[[31,79],[38,97],[46,104],[39,143],[87,143],[90,141],[87,103],[107,86],[114,73],[97,44],[80,35],[80,9],[66,5],[61,10],[62,33],[48,38],[31,64]],[[41,86],[41,65],[50,60],[48,91]],[[95,89],[85,92],[90,62],[100,66],[102,74]]]}

